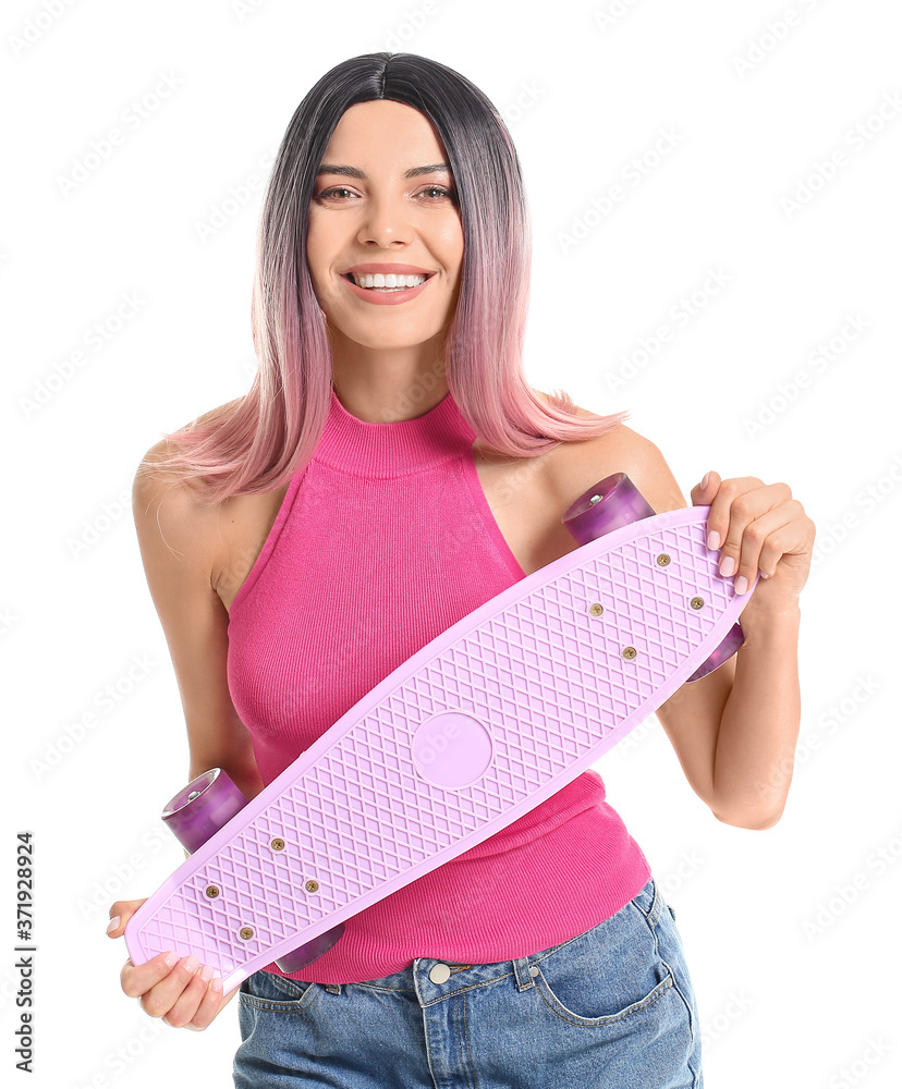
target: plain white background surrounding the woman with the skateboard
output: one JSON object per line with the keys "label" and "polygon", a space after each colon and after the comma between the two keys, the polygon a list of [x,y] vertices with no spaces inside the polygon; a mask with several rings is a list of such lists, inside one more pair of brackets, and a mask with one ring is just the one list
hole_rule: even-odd
{"label": "plain white background surrounding the woman with the skateboard", "polygon": [[[600,0],[534,14],[474,0],[29,0],[5,4],[2,24],[3,1077],[17,1077],[13,847],[28,829],[28,1084],[231,1085],[236,1001],[203,1033],[148,1018],[119,989],[124,942],[105,934],[113,900],[148,895],[182,860],[157,815],[187,769],[129,494],[163,431],[249,383],[260,162],[324,72],[390,48],[458,69],[509,121],[535,234],[533,384],[629,408],[687,502],[714,468],[788,482],[817,524],[780,823],[720,824],[655,719],[597,767],[676,910],[706,1086],[899,1086],[892,0]],[[155,100],[163,77],[176,86]],[[124,125],[145,96],[149,115]],[[113,127],[125,142],[66,193],[75,160]],[[655,162],[662,130],[676,140]],[[634,184],[624,171],[643,156]],[[623,199],[593,210],[614,184]],[[712,290],[709,270],[727,282]],[[678,322],[693,292],[696,313]],[[126,295],[141,303],[120,320]],[[86,341],[97,323],[99,350]],[[671,339],[630,377],[624,359],[661,325]],[[816,359],[825,345],[830,358]],[[66,369],[80,348],[83,365]]]}

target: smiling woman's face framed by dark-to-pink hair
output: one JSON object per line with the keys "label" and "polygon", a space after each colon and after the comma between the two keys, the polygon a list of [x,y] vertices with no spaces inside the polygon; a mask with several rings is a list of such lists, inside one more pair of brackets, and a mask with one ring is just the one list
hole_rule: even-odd
{"label": "smiling woman's face framed by dark-to-pink hair", "polygon": [[[430,122],[411,106],[379,99],[342,115],[322,157],[307,228],[314,291],[339,340],[371,348],[443,340],[463,261],[454,179],[440,168],[447,161]],[[428,278],[412,289],[378,291],[354,285],[349,269]]]}

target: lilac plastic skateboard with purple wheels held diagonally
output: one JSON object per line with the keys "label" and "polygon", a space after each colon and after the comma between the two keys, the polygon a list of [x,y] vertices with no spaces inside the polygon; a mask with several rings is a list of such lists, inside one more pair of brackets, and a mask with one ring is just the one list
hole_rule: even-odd
{"label": "lilac plastic skateboard with purple wheels held diagonally", "polygon": [[297,971],[344,921],[594,764],[743,643],[709,506],[655,514],[623,473],[562,522],[577,548],[389,673],[256,797],[222,769],[162,819],[192,854],[125,927],[132,963],[197,955],[223,991]]}

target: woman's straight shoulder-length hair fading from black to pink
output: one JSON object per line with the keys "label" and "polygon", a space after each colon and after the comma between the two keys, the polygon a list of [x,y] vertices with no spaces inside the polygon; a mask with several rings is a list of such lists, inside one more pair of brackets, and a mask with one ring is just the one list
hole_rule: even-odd
{"label": "woman's straight shoulder-length hair fading from black to pink", "polygon": [[[337,64],[289,123],[257,231],[252,323],[259,367],[248,392],[164,435],[157,467],[204,484],[200,498],[273,491],[316,450],[329,413],[332,357],[307,267],[316,171],[342,114],[392,99],[423,113],[444,145],[458,193],[464,259],[444,346],[451,396],[487,446],[532,457],[605,435],[629,416],[577,416],[561,391],[540,397],[523,374],[531,228],[520,160],[504,122],[464,76],[415,53],[364,53]],[[412,388],[399,418],[429,392]],[[148,461],[142,465],[150,464]]]}

